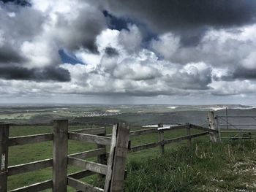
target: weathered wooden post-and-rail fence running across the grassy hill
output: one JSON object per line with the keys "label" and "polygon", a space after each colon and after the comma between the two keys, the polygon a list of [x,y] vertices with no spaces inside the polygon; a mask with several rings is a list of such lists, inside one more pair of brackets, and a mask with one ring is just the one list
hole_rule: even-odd
{"label": "weathered wooden post-and-rail fence running across the grassy hill", "polygon": [[[53,122],[53,133],[37,134],[24,137],[9,137],[9,125],[0,124],[0,192],[7,191],[7,177],[24,172],[31,172],[38,169],[53,167],[53,179],[41,183],[17,188],[10,192],[43,191],[52,188],[54,192],[67,191],[67,185],[78,191],[123,191],[124,174],[127,152],[137,152],[152,147],[159,147],[161,153],[165,153],[165,145],[200,137],[209,134],[213,142],[217,142],[218,131],[214,124],[213,112],[208,113],[209,128],[195,126],[189,123],[177,124],[163,127],[160,123],[155,128],[144,128],[137,131],[129,131],[129,126],[125,123],[118,123],[113,126],[112,134],[106,135],[106,128],[86,128],[75,131],[68,131],[67,120],[55,120]],[[187,129],[187,136],[165,139],[165,131],[176,129]],[[191,129],[195,128],[203,132],[191,134]],[[159,141],[132,146],[129,137],[138,137],[146,134],[159,134]],[[91,142],[97,144],[97,149],[84,151],[81,153],[67,154],[68,139],[81,142]],[[37,142],[53,141],[53,158],[8,166],[8,147],[15,145],[26,145]],[[109,145],[109,152],[106,150]],[[84,160],[97,156],[97,163]],[[107,161],[108,159],[108,161]],[[67,165],[78,166],[83,171],[67,174]],[[105,180],[104,188],[94,187],[83,183],[79,179],[91,174],[99,174],[99,178]]]}

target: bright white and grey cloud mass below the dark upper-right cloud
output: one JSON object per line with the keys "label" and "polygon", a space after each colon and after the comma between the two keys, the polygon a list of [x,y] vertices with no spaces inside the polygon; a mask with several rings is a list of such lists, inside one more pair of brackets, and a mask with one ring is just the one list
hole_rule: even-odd
{"label": "bright white and grey cloud mass below the dark upper-right cloud", "polygon": [[[212,28],[194,46],[184,46],[168,31],[144,46],[140,26],[108,28],[98,2],[33,0],[31,7],[2,6],[0,94],[255,94],[256,25]],[[83,64],[61,64],[61,49]]]}

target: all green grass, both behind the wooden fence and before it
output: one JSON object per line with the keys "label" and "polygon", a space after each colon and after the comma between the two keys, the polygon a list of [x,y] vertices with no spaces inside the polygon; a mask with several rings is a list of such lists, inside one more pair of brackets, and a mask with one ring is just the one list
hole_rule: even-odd
{"label": "all green grass, both behind the wooden fence and before it", "polygon": [[[70,130],[78,128],[89,127],[69,127]],[[131,130],[139,128],[132,126]],[[111,127],[107,128],[108,133],[111,132],[111,129]],[[10,128],[10,137],[50,132],[52,132],[51,126],[13,126]],[[192,133],[196,132],[198,131],[192,131]],[[167,131],[165,138],[180,137],[185,134],[187,134],[186,130]],[[132,146],[157,140],[157,134],[133,137]],[[252,144],[244,142],[237,145],[231,143],[211,145],[208,142],[208,137],[200,137],[193,139],[193,143],[195,145],[192,145],[191,148],[187,147],[187,141],[166,145],[167,153],[164,157],[159,156],[159,147],[129,153],[126,191],[206,191],[206,188],[208,191],[214,191],[215,188],[220,191],[227,191],[227,189],[244,188],[245,184],[243,186],[239,184],[240,187],[234,184],[239,175],[237,177],[232,175],[232,166],[238,164],[237,169],[239,169],[240,166],[247,167],[246,164],[240,164],[239,162],[254,161],[251,159],[254,151],[250,153],[252,147],[255,147],[254,142]],[[241,150],[239,150],[239,147],[241,147]],[[89,143],[69,141],[69,154],[95,148],[96,145]],[[246,158],[246,155],[249,155],[250,158]],[[52,142],[10,147],[9,166],[45,158],[52,158]],[[96,158],[90,158],[89,160],[96,161]],[[230,162],[233,162],[233,164],[230,164]],[[227,171],[227,177],[221,174],[220,170],[222,168]],[[68,167],[69,173],[78,170],[80,169],[73,166]],[[51,171],[51,168],[48,168],[11,176],[8,178],[8,188],[11,190],[48,180],[51,178]],[[222,182],[222,180],[225,180],[225,182]],[[97,176],[86,177],[83,181],[95,185]],[[69,191],[74,190],[69,188]]]}

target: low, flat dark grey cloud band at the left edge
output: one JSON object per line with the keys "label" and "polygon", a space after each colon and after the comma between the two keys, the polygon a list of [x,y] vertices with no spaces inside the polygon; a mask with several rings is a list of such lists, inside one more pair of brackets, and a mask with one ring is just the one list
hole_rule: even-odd
{"label": "low, flat dark grey cloud band at the left edge", "polygon": [[20,66],[0,67],[0,78],[4,80],[33,80],[33,81],[70,81],[67,69],[48,67],[44,69],[27,69]]}

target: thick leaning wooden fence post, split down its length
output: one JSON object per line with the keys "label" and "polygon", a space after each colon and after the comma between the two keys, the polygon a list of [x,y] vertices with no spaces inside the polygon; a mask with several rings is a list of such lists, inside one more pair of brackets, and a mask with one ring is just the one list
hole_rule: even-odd
{"label": "thick leaning wooden fence post, split down its length", "polygon": [[104,191],[121,192],[124,190],[125,163],[129,143],[129,126],[118,123],[113,126],[110,153],[108,157],[108,173]]}

